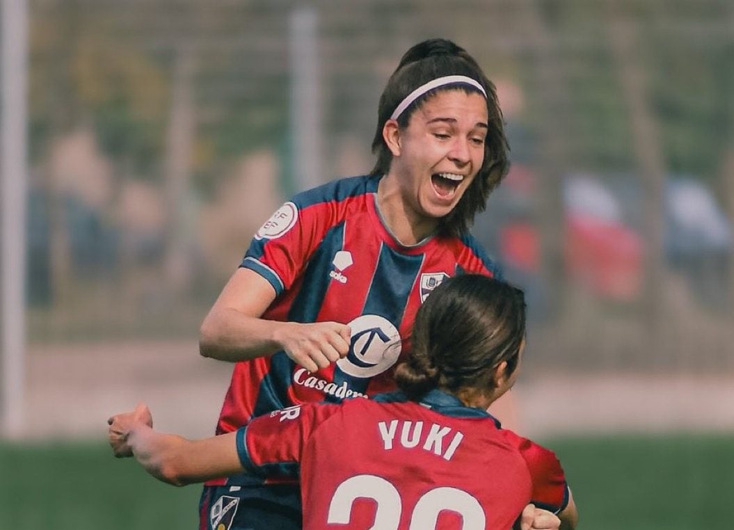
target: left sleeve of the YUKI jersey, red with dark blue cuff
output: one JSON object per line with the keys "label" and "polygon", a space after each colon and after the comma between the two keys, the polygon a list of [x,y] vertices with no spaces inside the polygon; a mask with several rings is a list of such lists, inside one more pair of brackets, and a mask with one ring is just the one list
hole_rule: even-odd
{"label": "left sleeve of the YUKI jersey, red with dark blue cuff", "polygon": [[237,430],[242,467],[263,478],[297,478],[308,440],[336,410],[336,404],[305,403],[253,419]]}

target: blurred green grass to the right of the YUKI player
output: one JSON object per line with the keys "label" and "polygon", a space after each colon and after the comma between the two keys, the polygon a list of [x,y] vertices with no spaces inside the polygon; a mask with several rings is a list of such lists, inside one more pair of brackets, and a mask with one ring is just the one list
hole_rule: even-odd
{"label": "blurred green grass to the right of the YUKI player", "polygon": [[544,440],[591,530],[732,528],[734,435]]}

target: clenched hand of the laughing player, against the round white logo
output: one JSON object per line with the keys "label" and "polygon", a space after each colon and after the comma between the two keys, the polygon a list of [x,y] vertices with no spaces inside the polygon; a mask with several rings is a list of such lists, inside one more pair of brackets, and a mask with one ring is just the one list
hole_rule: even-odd
{"label": "clenched hand of the laughing player, against the round white logo", "polygon": [[274,338],[294,363],[314,372],[346,357],[352,330],[338,322],[284,322]]}

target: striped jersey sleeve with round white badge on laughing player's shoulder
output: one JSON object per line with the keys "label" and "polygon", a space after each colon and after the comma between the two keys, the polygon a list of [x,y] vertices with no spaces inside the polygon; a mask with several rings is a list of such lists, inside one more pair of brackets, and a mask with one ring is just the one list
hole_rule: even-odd
{"label": "striped jersey sleeve with round white badge on laughing player's shoulder", "polygon": [[252,269],[275,289],[293,285],[333,223],[333,203],[308,203],[304,194],[280,206],[255,233],[240,266]]}

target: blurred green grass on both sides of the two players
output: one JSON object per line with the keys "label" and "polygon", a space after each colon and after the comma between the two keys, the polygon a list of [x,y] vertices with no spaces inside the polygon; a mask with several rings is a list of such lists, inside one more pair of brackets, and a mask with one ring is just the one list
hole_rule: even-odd
{"label": "blurred green grass on both sides of the two players", "polygon": [[[730,528],[734,435],[542,440],[562,461],[581,529]],[[0,526],[197,528],[200,487],[175,488],[102,442],[0,443]]]}

